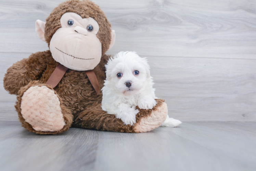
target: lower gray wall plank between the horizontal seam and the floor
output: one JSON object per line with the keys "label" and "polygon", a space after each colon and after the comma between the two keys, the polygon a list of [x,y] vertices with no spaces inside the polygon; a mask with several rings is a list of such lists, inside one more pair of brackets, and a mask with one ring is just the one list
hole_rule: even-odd
{"label": "lower gray wall plank between the horizontal seam and the floor", "polygon": [[[28,53],[0,53],[0,120],[17,120],[3,76]],[[144,56],[142,56],[144,57]],[[256,60],[148,57],[156,96],[181,121],[256,121]]]}

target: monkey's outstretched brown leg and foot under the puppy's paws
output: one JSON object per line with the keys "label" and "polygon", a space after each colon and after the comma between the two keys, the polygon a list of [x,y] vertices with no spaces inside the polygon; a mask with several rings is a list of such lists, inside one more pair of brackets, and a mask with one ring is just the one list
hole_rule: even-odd
{"label": "monkey's outstretched brown leg and foot under the puppy's paws", "polygon": [[[168,110],[164,100],[157,99],[157,104],[153,109],[139,109],[136,115],[134,126],[124,125],[121,119],[115,115],[107,114],[101,109],[101,103],[90,105],[82,111],[74,120],[74,126],[86,129],[96,129],[101,131],[114,132],[149,132],[159,127],[166,119]],[[138,108],[138,107],[137,107]]]}

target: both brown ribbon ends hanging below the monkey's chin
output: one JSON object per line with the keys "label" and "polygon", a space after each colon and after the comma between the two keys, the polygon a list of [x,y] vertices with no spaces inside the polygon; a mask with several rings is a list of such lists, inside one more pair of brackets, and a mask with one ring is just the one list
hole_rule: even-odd
{"label": "both brown ribbon ends hanging below the monkey's chin", "polygon": [[[53,71],[52,75],[50,76],[50,78],[48,79],[46,84],[51,85],[52,88],[56,87],[57,84],[59,84],[59,82],[61,81],[62,77],[64,76],[64,74],[66,73],[67,70],[68,70],[67,67],[59,64]],[[94,71],[88,70],[88,71],[85,71],[85,73],[86,73],[87,77],[89,78],[89,80],[92,84],[92,87],[94,88],[96,93],[99,94],[100,93],[100,85],[99,85],[99,82],[97,80],[97,77],[96,77]]]}

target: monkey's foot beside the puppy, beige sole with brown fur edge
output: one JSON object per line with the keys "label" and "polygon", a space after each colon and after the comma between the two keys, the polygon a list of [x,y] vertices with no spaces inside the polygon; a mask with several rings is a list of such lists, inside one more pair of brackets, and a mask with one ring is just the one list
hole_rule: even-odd
{"label": "monkey's foot beside the puppy, beige sole with brown fur edge", "polygon": [[[159,126],[165,121],[168,115],[167,104],[162,99],[156,99],[156,106],[153,107],[151,114],[137,120],[134,126],[135,132],[149,132]],[[140,113],[148,112],[149,110],[140,109]],[[139,114],[140,114],[139,113]]]}

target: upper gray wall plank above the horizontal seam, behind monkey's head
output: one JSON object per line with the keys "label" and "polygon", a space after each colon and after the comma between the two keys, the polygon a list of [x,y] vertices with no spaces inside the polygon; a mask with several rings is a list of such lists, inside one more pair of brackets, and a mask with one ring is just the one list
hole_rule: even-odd
{"label": "upper gray wall plank above the horizontal seam, behind monkey's head", "polygon": [[[45,21],[62,0],[0,1],[0,52],[48,49],[35,21]],[[95,0],[116,31],[108,54],[251,58],[256,53],[256,1]]]}

